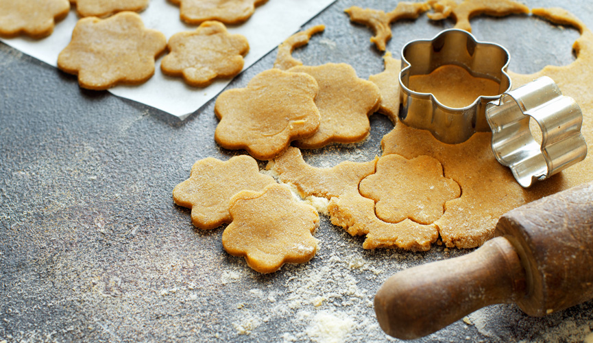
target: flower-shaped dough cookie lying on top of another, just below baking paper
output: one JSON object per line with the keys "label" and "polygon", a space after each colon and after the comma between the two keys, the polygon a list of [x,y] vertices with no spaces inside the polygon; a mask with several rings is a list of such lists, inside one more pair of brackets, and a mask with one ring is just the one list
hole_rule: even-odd
{"label": "flower-shaped dough cookie lying on top of another, just below baking paper", "polygon": [[263,71],[246,88],[218,96],[215,140],[226,149],[245,149],[255,158],[271,160],[291,141],[317,131],[317,91],[317,82],[305,73]]}

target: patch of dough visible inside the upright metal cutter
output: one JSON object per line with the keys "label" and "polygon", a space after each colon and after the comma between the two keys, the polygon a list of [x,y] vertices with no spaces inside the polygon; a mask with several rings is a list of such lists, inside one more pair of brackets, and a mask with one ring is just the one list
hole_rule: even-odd
{"label": "patch of dough visible inside the upright metal cutter", "polygon": [[454,108],[470,106],[481,95],[500,94],[498,82],[474,77],[464,68],[452,64],[438,67],[428,75],[411,75],[408,88],[433,93],[441,104]]}

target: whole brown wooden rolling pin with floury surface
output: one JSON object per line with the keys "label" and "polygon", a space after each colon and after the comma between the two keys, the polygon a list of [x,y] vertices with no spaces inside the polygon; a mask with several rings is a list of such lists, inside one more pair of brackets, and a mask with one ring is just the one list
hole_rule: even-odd
{"label": "whole brown wooden rolling pin with floury surface", "polygon": [[487,305],[545,316],[593,298],[593,182],[509,211],[496,230],[468,255],[387,279],[375,295],[381,328],[410,340]]}

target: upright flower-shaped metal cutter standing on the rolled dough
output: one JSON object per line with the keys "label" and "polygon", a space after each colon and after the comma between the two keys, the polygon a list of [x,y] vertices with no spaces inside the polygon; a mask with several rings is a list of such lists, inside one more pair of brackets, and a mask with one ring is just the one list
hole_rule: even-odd
{"label": "upright flower-shaped metal cutter standing on the rolled dough", "polygon": [[[408,126],[429,130],[444,143],[467,141],[474,132],[489,131],[485,105],[511,89],[507,75],[509,51],[494,43],[479,42],[461,29],[446,29],[432,40],[412,40],[402,49],[400,71],[400,120]],[[431,93],[411,90],[412,75],[426,75],[446,64],[463,67],[474,77],[494,80],[496,96],[480,96],[469,106],[452,108]]]}

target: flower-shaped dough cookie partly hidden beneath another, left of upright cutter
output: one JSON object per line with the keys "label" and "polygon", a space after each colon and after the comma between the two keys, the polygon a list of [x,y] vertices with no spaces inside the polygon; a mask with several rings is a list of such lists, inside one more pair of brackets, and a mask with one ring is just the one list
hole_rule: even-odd
{"label": "flower-shaped dough cookie partly hidden beneath another, left of upright cutter", "polygon": [[328,143],[354,143],[367,137],[369,116],[378,108],[378,87],[356,76],[354,68],[346,63],[328,63],[320,66],[298,66],[291,72],[307,73],[319,85],[315,105],[321,122],[313,136],[296,141],[303,149],[316,149]]}

